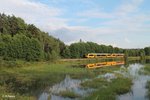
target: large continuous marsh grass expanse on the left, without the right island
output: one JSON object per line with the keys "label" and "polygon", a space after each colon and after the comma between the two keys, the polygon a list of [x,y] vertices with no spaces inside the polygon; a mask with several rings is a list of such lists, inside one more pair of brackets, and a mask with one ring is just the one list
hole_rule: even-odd
{"label": "large continuous marsh grass expanse on the left, without the right island", "polygon": [[[21,100],[26,97],[33,98],[42,89],[52,86],[70,75],[71,78],[86,79],[94,78],[99,74],[112,73],[119,67],[106,67],[99,69],[81,68],[84,61],[75,62],[23,62],[17,61],[18,67],[0,66],[0,94],[19,94]],[[74,66],[74,67],[73,67]],[[25,96],[24,96],[25,95]],[[69,95],[69,94],[65,94]],[[23,99],[23,97],[25,99]]]}

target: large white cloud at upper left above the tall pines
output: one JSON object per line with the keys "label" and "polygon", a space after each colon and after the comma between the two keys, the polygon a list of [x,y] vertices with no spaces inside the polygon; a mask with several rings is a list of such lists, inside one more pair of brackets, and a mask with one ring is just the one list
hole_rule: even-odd
{"label": "large white cloud at upper left above the tall pines", "polygon": [[29,0],[1,0],[0,12],[14,14],[46,31],[65,26],[67,21],[58,17],[63,14],[62,9]]}

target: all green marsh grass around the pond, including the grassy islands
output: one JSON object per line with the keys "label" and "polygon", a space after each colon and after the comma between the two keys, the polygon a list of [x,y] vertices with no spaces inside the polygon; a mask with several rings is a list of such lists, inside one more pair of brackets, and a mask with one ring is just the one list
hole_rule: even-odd
{"label": "all green marsh grass around the pond, including the grassy islands", "polygon": [[[19,99],[21,98],[20,100],[30,100],[28,98],[35,100],[35,95],[42,89],[60,82],[66,75],[76,79],[93,79],[98,75],[113,73],[113,71],[119,69],[117,66],[99,69],[82,68],[87,63],[99,61],[102,60],[57,61],[53,63],[0,61],[0,97],[3,94],[12,94]],[[147,64],[144,70],[147,74],[150,73],[150,64]],[[85,100],[113,100],[116,98],[116,95],[128,92],[131,87],[131,80],[119,75],[117,77],[112,82],[96,78],[92,81],[81,83],[84,88],[98,89]],[[70,91],[61,93],[61,95],[66,97],[77,96]]]}

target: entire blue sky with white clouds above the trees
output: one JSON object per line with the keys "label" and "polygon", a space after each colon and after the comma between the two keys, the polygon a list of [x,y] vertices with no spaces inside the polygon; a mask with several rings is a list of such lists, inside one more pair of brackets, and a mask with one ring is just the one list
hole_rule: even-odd
{"label": "entire blue sky with white clouds above the trees", "polygon": [[150,46],[150,0],[0,0],[0,13],[21,17],[66,44]]}

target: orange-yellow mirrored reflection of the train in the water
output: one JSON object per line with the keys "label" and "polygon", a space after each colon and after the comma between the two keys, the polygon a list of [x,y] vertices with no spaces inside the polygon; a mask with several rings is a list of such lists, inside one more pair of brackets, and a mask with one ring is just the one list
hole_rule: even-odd
{"label": "orange-yellow mirrored reflection of the train in the water", "polygon": [[100,63],[87,64],[86,68],[101,68],[101,67],[124,65],[124,64],[125,64],[124,61],[100,62]]}

